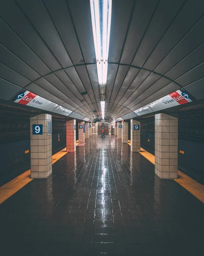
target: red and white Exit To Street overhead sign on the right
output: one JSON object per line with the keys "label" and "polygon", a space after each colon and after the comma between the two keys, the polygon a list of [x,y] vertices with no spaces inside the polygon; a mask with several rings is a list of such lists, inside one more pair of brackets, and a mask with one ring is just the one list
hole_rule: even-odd
{"label": "red and white Exit To Street overhead sign on the right", "polygon": [[166,108],[172,108],[178,105],[183,105],[188,102],[192,102],[192,100],[190,99],[190,95],[188,93],[182,92],[181,90],[177,90],[160,99],[155,100],[154,102],[147,104],[142,108],[138,108],[133,112],[138,116],[142,116]]}

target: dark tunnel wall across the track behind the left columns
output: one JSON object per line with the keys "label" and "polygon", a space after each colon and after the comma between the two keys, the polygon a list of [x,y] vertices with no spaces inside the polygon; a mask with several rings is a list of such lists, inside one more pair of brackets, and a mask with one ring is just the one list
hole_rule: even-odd
{"label": "dark tunnel wall across the track behind the left columns", "polygon": [[[77,133],[78,134],[78,133]],[[52,120],[52,154],[66,147],[66,121]],[[30,169],[30,119],[0,118],[0,186]]]}

